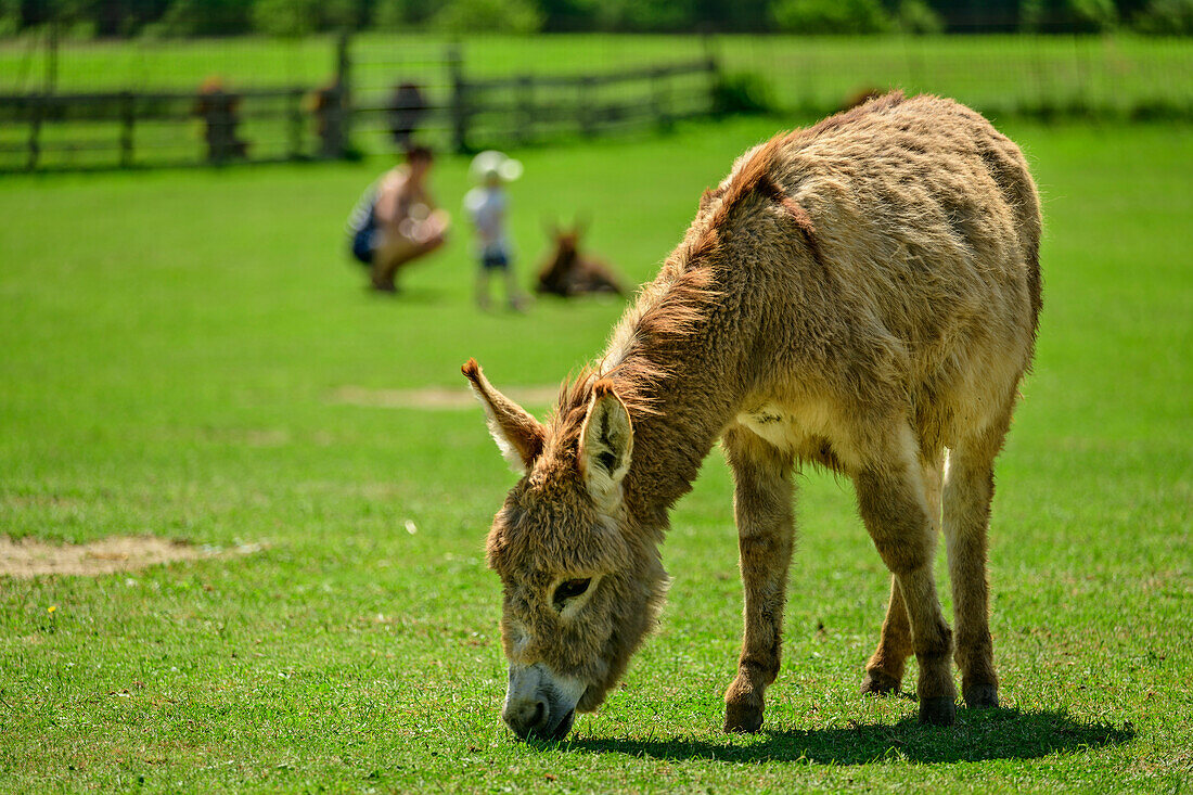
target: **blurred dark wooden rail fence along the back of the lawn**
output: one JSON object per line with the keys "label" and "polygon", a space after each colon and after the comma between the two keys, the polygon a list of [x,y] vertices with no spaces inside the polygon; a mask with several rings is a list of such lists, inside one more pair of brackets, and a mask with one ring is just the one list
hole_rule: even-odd
{"label": "blurred dark wooden rail fence along the back of the lawn", "polygon": [[[711,56],[601,74],[472,78],[443,50],[418,140],[475,152],[666,128],[713,110]],[[352,82],[348,42],[321,87],[0,94],[0,172],[227,165],[391,150],[388,87]]]}

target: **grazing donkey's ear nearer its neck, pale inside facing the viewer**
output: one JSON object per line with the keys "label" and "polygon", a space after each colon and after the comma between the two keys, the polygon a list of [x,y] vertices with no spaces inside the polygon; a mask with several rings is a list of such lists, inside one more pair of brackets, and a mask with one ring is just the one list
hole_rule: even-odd
{"label": "grazing donkey's ear nearer its neck, pale inside facing the viewer", "polygon": [[596,505],[612,510],[620,499],[622,480],[630,472],[633,427],[630,412],[611,381],[598,381],[580,429],[580,474]]}

